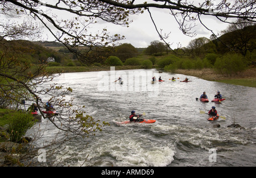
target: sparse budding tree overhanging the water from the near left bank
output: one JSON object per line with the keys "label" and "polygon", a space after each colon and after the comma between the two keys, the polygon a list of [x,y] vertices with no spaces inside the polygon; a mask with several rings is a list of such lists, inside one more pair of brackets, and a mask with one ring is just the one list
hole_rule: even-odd
{"label": "sparse budding tree overhanging the water from the near left bank", "polygon": [[[71,93],[72,89],[58,86],[52,82],[53,78],[58,77],[59,74],[46,72],[47,64],[45,61],[32,64],[27,60],[27,56],[24,55],[24,53],[26,54],[31,50],[29,46],[23,45],[23,48],[19,48],[19,46],[11,44],[12,43],[6,40],[0,41],[1,105],[5,107],[10,106],[18,110],[20,109],[19,106],[23,105],[22,101],[26,101],[24,104],[26,108],[34,102],[44,119],[47,119],[59,131],[66,133],[60,137],[56,135],[57,139],[48,140],[49,144],[34,147],[32,143],[38,138],[36,135],[40,135],[40,133],[35,133],[35,135],[32,135],[34,140],[27,145],[28,148],[26,152],[20,154],[18,162],[16,163],[30,164],[34,161],[32,158],[38,156],[40,148],[47,150],[46,154],[59,152],[61,145],[68,142],[68,140],[76,138],[77,136],[92,136],[97,131],[100,131],[103,126],[108,124],[106,122],[101,123],[100,120],[86,115],[84,106],[73,105],[72,99],[66,100],[65,95]],[[37,87],[38,85],[48,83],[48,88],[39,89]],[[47,117],[47,115],[43,114],[42,110],[46,105],[46,98],[48,98],[47,101],[51,102],[56,110],[61,112],[60,115]],[[20,124],[21,123],[19,123],[19,126]],[[23,127],[20,128],[22,129]],[[14,140],[18,141],[22,133],[24,133],[24,130],[20,131],[19,135],[15,136]],[[10,159],[14,159],[13,156],[13,151],[7,152],[5,155],[6,158]],[[35,162],[37,162],[37,160],[35,160]],[[48,163],[51,164],[51,160],[49,160]]]}

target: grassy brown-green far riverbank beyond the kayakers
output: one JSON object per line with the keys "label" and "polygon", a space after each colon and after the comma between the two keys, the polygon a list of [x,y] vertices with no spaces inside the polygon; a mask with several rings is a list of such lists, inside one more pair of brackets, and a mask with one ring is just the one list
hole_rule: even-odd
{"label": "grassy brown-green far riverbank beyond the kayakers", "polygon": [[[142,66],[116,66],[115,70],[129,70],[129,69],[142,69]],[[109,66],[99,67],[47,67],[48,72],[53,73],[67,73],[67,72],[92,72],[92,71],[109,71]],[[203,78],[208,81],[224,82],[233,85],[250,86],[256,88],[256,68],[249,68],[246,71],[238,73],[237,75],[226,76],[224,74],[216,73],[213,69],[177,69],[175,73],[185,74],[188,76],[195,76]]]}

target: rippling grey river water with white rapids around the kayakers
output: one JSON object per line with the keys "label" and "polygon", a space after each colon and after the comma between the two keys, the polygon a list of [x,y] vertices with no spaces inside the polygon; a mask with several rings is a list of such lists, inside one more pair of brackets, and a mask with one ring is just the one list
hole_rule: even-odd
{"label": "rippling grey river water with white rapids around the kayakers", "polygon": [[[115,82],[120,76],[123,85]],[[165,81],[151,84],[153,76]],[[179,79],[169,80],[172,77]],[[191,82],[180,82],[185,77]],[[93,138],[68,142],[64,165],[79,166],[87,156],[82,165],[94,167],[256,165],[255,88],[158,73],[155,69],[63,73],[53,82],[71,87],[73,92],[67,97],[74,97],[76,105],[85,105],[86,114],[110,123]],[[203,92],[211,101],[217,91],[225,101],[196,101]],[[208,115],[200,113],[212,106],[225,119],[208,121]],[[131,110],[156,122],[117,124],[127,121]],[[46,123],[47,119],[43,119],[40,125]],[[245,129],[228,127],[232,123]],[[216,124],[220,127],[213,127]],[[44,131],[48,138],[54,138],[55,133],[53,127]],[[83,149],[77,152],[79,148]],[[72,154],[75,156],[69,158]]]}

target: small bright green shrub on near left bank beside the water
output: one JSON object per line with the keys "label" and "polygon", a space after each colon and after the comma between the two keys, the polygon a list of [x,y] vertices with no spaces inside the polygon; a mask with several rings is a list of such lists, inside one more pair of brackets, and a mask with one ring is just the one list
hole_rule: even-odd
{"label": "small bright green shrub on near left bank beside the water", "polygon": [[11,142],[19,142],[26,131],[33,126],[33,116],[30,113],[18,111],[9,118],[9,134]]}

